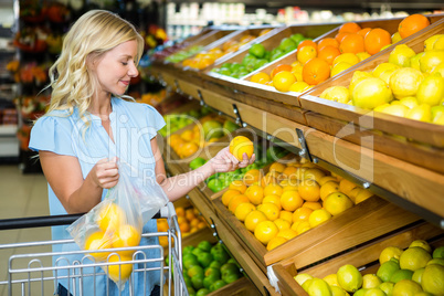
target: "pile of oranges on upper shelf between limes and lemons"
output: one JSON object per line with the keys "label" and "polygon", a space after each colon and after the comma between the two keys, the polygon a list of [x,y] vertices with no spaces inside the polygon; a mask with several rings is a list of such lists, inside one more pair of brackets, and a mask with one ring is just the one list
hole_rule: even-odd
{"label": "pile of oranges on upper shelf between limes and lemons", "polygon": [[300,42],[294,63],[278,64],[271,74],[256,73],[250,81],[274,86],[279,92],[302,93],[429,24],[426,17],[412,14],[402,20],[398,31],[391,34],[382,28],[361,28],[356,22],[347,22],[335,38]]}

